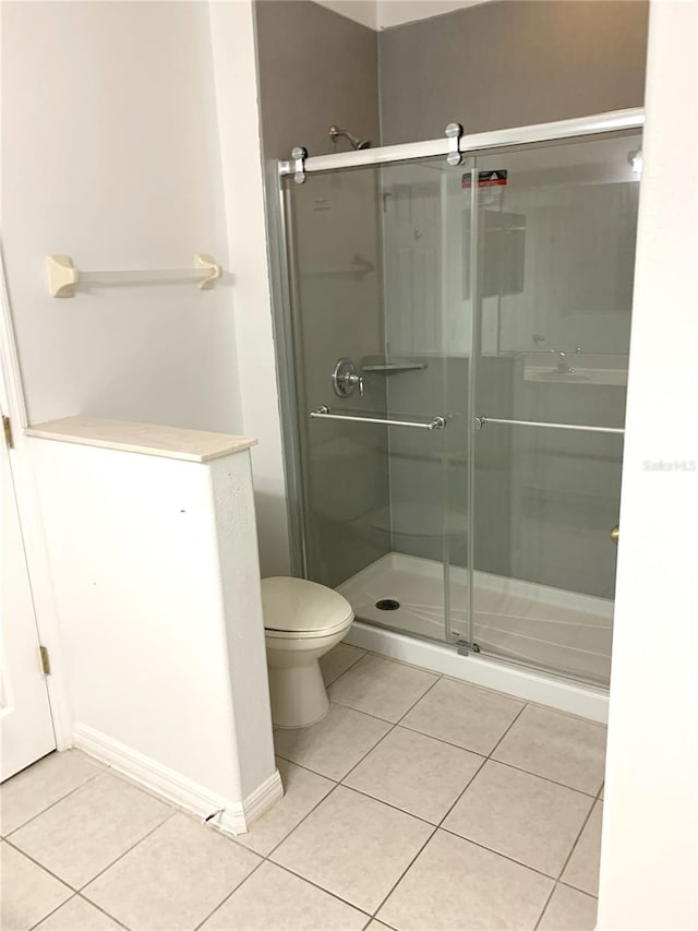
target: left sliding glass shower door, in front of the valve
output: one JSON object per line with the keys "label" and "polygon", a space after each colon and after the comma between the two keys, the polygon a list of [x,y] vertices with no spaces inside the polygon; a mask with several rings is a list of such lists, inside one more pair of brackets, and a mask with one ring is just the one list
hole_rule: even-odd
{"label": "left sliding glass shower door, in front of the valve", "polygon": [[286,200],[305,574],[358,618],[454,641],[469,637],[469,329],[446,251],[462,263],[460,174],[444,167],[311,175]]}

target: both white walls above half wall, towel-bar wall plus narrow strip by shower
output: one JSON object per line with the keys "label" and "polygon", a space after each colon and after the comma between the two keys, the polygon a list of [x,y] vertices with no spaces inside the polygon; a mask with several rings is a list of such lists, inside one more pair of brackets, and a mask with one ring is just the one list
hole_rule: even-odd
{"label": "both white walls above half wall, towel-bar wall plus narrow strip by shower", "polygon": [[[3,250],[31,422],[257,437],[262,571],[287,573],[251,0],[1,10]],[[210,252],[228,273],[210,291],[59,300],[52,252],[86,270],[193,268]]]}

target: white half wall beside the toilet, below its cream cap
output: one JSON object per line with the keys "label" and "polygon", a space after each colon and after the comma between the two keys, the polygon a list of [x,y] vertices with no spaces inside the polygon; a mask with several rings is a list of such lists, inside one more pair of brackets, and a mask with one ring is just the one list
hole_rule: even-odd
{"label": "white half wall beside the toilet, below its cream cap", "polygon": [[75,744],[244,829],[244,801],[280,793],[246,450],[28,445]]}

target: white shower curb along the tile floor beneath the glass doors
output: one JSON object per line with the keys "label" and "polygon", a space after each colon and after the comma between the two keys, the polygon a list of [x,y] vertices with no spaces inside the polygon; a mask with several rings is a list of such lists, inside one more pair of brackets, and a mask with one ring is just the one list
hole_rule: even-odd
{"label": "white shower curb along the tile floor beneath the glass doors", "polygon": [[406,636],[362,621],[353,622],[344,642],[600,724],[609,719],[609,693],[593,685],[530,672],[483,656],[460,656],[453,646]]}

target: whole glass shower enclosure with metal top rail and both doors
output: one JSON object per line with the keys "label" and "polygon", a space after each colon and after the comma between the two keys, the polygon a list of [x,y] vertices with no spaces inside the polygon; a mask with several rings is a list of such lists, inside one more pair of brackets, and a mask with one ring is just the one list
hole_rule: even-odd
{"label": "whole glass shower enclosure with metal top rail and both doors", "polygon": [[607,685],[641,123],[277,169],[296,571],[358,619]]}

